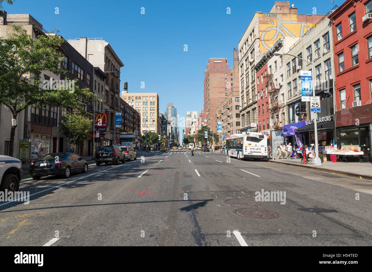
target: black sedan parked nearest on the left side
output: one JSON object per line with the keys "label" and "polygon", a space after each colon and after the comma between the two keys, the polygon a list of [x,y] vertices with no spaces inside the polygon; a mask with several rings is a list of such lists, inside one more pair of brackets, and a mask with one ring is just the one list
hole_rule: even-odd
{"label": "black sedan parked nearest on the left side", "polygon": [[88,163],[83,157],[75,153],[49,153],[31,162],[30,174],[33,179],[40,179],[42,176],[62,175],[70,177],[71,173],[88,171]]}

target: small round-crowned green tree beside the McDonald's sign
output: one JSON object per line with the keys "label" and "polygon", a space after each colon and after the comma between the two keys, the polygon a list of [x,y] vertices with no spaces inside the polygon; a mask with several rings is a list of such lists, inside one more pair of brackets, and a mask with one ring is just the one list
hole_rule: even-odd
{"label": "small round-crowned green tree beside the McDonald's sign", "polygon": [[90,138],[92,123],[93,119],[88,119],[81,114],[67,113],[63,117],[61,129],[72,145],[80,145]]}

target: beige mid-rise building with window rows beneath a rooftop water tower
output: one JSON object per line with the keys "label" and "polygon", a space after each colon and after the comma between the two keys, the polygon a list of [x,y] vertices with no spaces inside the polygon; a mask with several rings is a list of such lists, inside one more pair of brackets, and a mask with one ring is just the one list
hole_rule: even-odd
{"label": "beige mid-rise building with window rows beneath a rooftop water tower", "polygon": [[140,114],[142,135],[146,132],[161,133],[158,93],[128,93],[128,91],[122,91],[121,97]]}

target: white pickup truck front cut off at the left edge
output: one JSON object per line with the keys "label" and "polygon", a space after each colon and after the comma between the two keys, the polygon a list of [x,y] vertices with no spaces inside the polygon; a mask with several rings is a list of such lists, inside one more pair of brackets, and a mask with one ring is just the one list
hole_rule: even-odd
{"label": "white pickup truck front cut off at the left edge", "polygon": [[22,163],[19,159],[0,155],[0,191],[19,190],[19,182],[23,177]]}

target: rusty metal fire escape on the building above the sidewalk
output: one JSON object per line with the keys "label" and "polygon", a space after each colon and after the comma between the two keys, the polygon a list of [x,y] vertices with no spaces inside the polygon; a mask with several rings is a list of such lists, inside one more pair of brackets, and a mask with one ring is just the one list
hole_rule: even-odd
{"label": "rusty metal fire escape on the building above the sidewalk", "polygon": [[279,102],[279,92],[278,88],[273,81],[273,74],[266,74],[264,78],[269,81],[269,98],[270,98],[270,118],[272,120],[271,128],[275,130],[281,130],[283,126],[280,124],[280,114],[285,106],[283,103]]}

